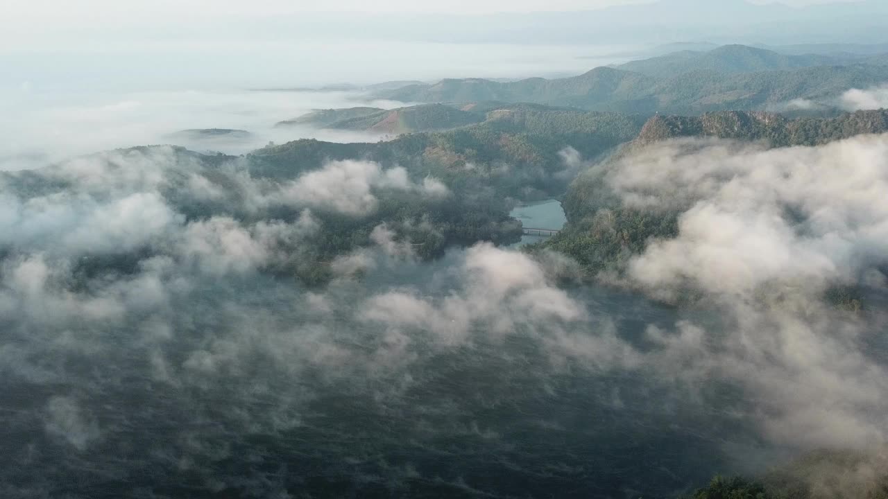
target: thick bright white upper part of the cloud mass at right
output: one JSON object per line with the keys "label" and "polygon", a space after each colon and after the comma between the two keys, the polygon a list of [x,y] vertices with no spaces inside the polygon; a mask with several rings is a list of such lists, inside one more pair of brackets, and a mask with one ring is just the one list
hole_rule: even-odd
{"label": "thick bright white upper part of the cloud mass at right", "polygon": [[768,282],[816,290],[854,281],[888,250],[886,158],[888,136],[773,150],[696,139],[652,147],[609,182],[627,203],[683,213],[678,238],[650,244],[630,273],[663,292],[690,281],[744,296]]}

